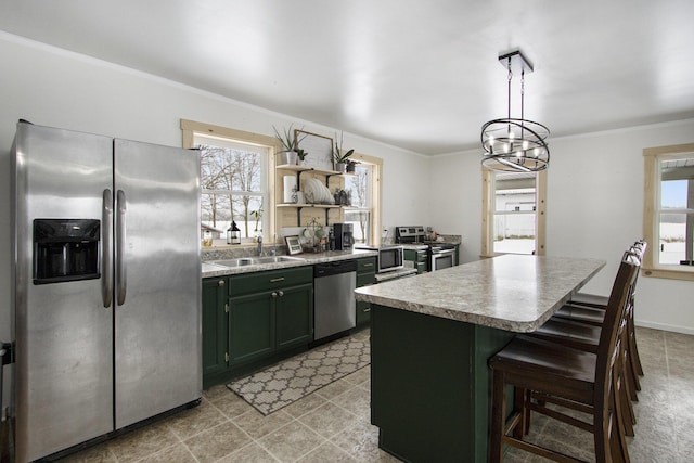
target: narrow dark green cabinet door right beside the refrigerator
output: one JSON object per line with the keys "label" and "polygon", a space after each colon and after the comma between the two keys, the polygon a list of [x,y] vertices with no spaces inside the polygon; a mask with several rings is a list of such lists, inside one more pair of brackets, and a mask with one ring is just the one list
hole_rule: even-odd
{"label": "narrow dark green cabinet door right beside the refrigerator", "polygon": [[227,369],[229,352],[229,313],[226,278],[203,280],[203,383],[206,375]]}

